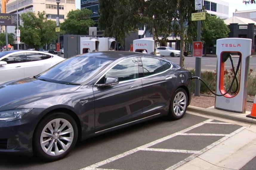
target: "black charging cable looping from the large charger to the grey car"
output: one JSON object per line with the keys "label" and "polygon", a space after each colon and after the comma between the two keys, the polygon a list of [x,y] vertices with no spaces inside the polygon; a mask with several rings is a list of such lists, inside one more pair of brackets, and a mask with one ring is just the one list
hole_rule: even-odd
{"label": "black charging cable looping from the large charger to the grey car", "polygon": [[[226,93],[224,94],[217,94],[215,93],[214,91],[212,91],[212,89],[206,84],[206,82],[203,81],[203,79],[201,79],[200,77],[197,77],[197,76],[192,76],[191,79],[199,79],[201,82],[203,82],[203,84],[206,85],[206,87],[211,91],[212,94],[214,94],[215,96],[224,96],[226,95],[227,93],[231,92],[231,93],[235,93],[238,91],[238,79],[237,79],[237,74],[238,74],[238,70],[239,70],[239,67],[240,67],[240,63],[241,63],[241,58],[239,57],[239,60],[238,60],[238,65],[237,65],[237,68],[236,68],[236,71],[235,71],[235,67],[234,67],[234,64],[233,64],[233,60],[232,60],[232,57],[231,55],[229,55],[229,59],[231,61],[231,65],[232,65],[232,70],[234,72],[234,78],[232,79],[232,82],[231,82],[231,85],[228,89],[228,91],[226,91]],[[231,91],[232,87],[233,87],[233,84],[234,82],[236,81],[236,88],[235,88],[235,91]]]}

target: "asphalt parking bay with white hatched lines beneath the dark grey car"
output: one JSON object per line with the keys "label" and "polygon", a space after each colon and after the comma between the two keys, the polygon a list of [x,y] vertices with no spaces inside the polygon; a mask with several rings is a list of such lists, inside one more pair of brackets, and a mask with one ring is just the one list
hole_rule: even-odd
{"label": "asphalt parking bay with white hatched lines beneath the dark grey car", "polygon": [[240,128],[192,114],[178,121],[158,118],[82,141],[68,157],[52,163],[35,157],[0,155],[0,170],[175,169]]}

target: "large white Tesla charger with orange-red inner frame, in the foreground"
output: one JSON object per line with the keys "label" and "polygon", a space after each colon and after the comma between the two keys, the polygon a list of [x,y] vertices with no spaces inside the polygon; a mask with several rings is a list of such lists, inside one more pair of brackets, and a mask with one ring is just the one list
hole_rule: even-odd
{"label": "large white Tesla charger with orange-red inner frame, in the foreground", "polygon": [[[236,113],[246,112],[247,99],[247,81],[249,74],[249,60],[251,55],[252,40],[247,38],[223,38],[217,40],[216,54],[217,54],[217,95],[226,93],[224,87],[225,61],[229,56],[238,56],[238,64],[240,65],[240,74],[238,72],[238,91],[231,95],[226,93],[224,96],[215,97],[215,108],[220,110],[232,111]],[[232,58],[234,60],[234,58]],[[239,64],[240,60],[240,64]],[[235,71],[236,71],[235,68]],[[229,69],[229,68],[228,68]]]}

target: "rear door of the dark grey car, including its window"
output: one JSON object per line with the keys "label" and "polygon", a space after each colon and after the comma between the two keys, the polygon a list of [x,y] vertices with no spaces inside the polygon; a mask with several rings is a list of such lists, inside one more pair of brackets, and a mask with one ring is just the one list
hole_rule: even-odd
{"label": "rear door of the dark grey car, including its window", "polygon": [[141,57],[143,74],[143,114],[144,116],[164,113],[168,110],[176,77],[172,64],[166,60]]}

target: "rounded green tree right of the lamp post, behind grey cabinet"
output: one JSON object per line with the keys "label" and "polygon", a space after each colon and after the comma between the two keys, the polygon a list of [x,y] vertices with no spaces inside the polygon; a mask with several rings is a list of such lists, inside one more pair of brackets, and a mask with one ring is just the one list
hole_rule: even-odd
{"label": "rounded green tree right of the lamp post, behind grey cabinet", "polygon": [[61,23],[61,29],[65,34],[86,35],[89,33],[89,27],[95,22],[89,18],[92,11],[88,9],[71,10],[67,18]]}

